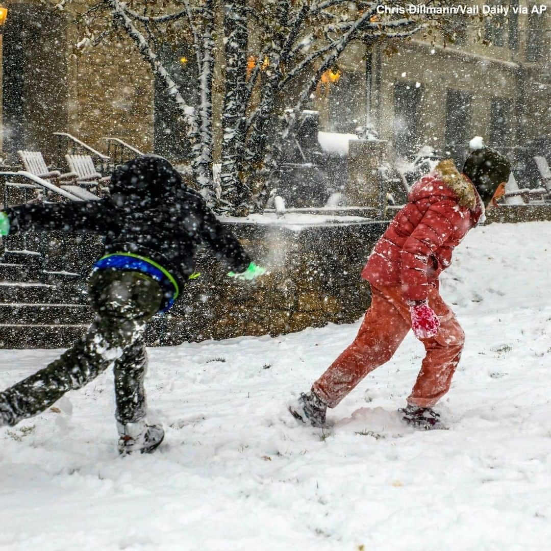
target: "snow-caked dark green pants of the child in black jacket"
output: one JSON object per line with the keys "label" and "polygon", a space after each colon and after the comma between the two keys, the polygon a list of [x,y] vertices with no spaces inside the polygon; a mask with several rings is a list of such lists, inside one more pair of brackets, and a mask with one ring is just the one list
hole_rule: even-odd
{"label": "snow-caked dark green pants of the child in black jacket", "polygon": [[143,333],[147,320],[159,310],[163,291],[140,272],[107,269],[92,274],[88,293],[96,320],[61,358],[0,392],[0,425],[33,417],[111,366],[116,420],[126,424],[145,417]]}

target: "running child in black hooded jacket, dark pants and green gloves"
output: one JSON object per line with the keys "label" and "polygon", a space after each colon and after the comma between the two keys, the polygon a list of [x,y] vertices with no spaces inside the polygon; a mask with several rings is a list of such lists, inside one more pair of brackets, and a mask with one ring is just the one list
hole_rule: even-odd
{"label": "running child in black hooded jacket, dark pants and green gloves", "polygon": [[144,155],[118,168],[111,197],[101,201],[23,205],[0,213],[0,234],[66,230],[105,235],[105,256],[88,283],[96,320],[61,358],[0,392],[0,426],[44,411],[68,390],[113,366],[118,450],[150,452],[164,437],[146,422],[143,380],[145,323],[168,310],[193,273],[195,252],[205,244],[231,275],[252,279],[264,272],[189,190],[170,163]]}

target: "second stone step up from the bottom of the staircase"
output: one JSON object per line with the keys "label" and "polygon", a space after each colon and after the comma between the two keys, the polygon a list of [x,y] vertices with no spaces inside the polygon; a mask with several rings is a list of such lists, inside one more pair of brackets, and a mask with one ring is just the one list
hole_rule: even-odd
{"label": "second stone step up from the bottom of the staircase", "polygon": [[81,304],[0,304],[0,322],[6,325],[83,325],[93,319],[90,306]]}

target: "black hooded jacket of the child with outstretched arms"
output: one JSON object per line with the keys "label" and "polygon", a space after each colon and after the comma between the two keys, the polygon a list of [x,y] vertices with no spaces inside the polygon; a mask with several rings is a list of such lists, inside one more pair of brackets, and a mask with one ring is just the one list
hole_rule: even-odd
{"label": "black hooded jacket of the child with outstretched arms", "polygon": [[10,234],[64,230],[105,235],[106,255],[126,252],[160,264],[181,286],[193,273],[198,245],[234,272],[250,258],[203,198],[187,188],[172,165],[156,155],[114,171],[111,197],[101,201],[25,204],[5,210]]}

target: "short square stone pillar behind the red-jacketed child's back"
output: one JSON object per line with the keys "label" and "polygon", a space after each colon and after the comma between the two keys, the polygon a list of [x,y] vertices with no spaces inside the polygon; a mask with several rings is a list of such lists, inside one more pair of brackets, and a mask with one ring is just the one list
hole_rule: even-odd
{"label": "short square stone pillar behind the red-jacketed child's back", "polygon": [[382,189],[378,169],[385,161],[385,140],[350,140],[348,142],[348,181],[344,196],[354,207],[383,209],[385,190]]}

